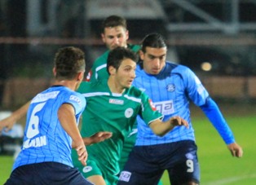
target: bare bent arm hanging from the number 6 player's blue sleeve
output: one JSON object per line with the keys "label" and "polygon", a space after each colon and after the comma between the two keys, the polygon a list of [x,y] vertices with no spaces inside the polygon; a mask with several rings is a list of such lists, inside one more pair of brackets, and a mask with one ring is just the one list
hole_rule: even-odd
{"label": "bare bent arm hanging from the number 6 player's blue sleeve", "polygon": [[72,147],[77,151],[78,160],[82,162],[82,165],[86,165],[88,154],[74,115],[75,110],[71,104],[62,104],[58,110],[60,124],[73,139]]}

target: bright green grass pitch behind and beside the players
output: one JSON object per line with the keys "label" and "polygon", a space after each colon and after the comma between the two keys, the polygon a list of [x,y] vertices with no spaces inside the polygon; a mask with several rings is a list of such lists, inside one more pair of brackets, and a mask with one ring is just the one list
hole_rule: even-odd
{"label": "bright green grass pitch behind and beside the players", "polygon": [[[255,108],[251,110],[251,112],[254,111]],[[235,134],[236,142],[244,150],[244,156],[241,159],[231,156],[225,143],[203,114],[192,117],[201,165],[202,185],[255,184],[255,112],[246,116],[244,114],[233,113],[227,115],[224,113],[224,115],[227,115],[228,125]],[[12,163],[12,156],[0,156],[0,184],[5,183],[9,177]],[[170,184],[167,173],[164,174],[162,182],[163,185]]]}

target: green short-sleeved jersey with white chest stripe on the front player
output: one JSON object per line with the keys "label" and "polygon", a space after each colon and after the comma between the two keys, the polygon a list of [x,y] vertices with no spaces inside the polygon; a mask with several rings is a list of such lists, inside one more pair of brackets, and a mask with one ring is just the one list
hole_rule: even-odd
{"label": "green short-sleeved jersey with white chest stripe on the front player", "polygon": [[123,94],[114,94],[109,90],[107,81],[82,82],[78,91],[86,98],[86,109],[82,113],[82,137],[98,131],[113,132],[112,138],[86,147],[89,159],[108,166],[109,171],[117,174],[124,139],[130,134],[137,115],[147,125],[162,115],[152,107],[148,95],[133,86]]}

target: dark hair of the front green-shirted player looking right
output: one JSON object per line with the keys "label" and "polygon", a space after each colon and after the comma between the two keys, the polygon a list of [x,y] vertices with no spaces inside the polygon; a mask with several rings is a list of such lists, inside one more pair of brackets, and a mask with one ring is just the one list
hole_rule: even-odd
{"label": "dark hair of the front green-shirted player looking right", "polygon": [[[131,59],[137,62],[138,55],[136,55],[134,51],[131,51],[129,48],[125,48],[125,47],[117,47],[112,51],[109,51],[108,59],[107,59],[107,71],[109,66],[113,66],[113,68],[118,69],[121,65],[121,62],[124,59]],[[108,71],[108,74],[109,74],[109,71]]]}

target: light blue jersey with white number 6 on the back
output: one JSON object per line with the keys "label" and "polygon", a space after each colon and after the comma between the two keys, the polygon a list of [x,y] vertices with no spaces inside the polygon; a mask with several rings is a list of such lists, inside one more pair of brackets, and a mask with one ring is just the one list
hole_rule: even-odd
{"label": "light blue jersey with white number 6 on the back", "polygon": [[85,98],[65,86],[52,86],[35,96],[29,106],[24,131],[24,143],[13,170],[20,165],[59,162],[73,167],[72,139],[58,119],[62,104],[71,104],[78,119],[86,106]]}

